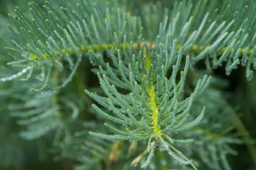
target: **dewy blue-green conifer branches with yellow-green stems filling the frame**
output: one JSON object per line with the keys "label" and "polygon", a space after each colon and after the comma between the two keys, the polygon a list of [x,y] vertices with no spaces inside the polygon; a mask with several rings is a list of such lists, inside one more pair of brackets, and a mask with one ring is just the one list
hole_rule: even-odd
{"label": "dewy blue-green conifer branches with yellow-green stems filling the frame", "polygon": [[230,170],[230,144],[253,143],[214,70],[253,78],[254,0],[44,4],[15,7],[0,31],[0,167],[32,140],[75,170]]}

